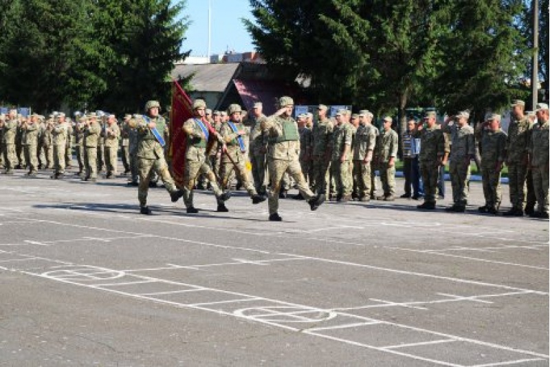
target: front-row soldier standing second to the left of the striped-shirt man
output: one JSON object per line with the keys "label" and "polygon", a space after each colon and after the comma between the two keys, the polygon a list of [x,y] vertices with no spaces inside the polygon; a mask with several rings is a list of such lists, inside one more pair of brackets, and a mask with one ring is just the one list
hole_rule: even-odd
{"label": "front-row soldier standing second to the left of the striped-shirt man", "polygon": [[353,181],[357,185],[357,200],[371,200],[371,162],[376,146],[373,114],[366,109],[359,112],[359,126],[353,140]]}

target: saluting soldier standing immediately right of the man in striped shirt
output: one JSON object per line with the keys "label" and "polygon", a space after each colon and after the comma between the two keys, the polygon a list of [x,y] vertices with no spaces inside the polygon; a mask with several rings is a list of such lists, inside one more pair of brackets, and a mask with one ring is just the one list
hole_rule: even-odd
{"label": "saluting soldier standing immediately right of the man in striped shirt", "polygon": [[435,209],[439,167],[447,164],[449,149],[443,132],[435,124],[435,112],[427,112],[424,120],[426,128],[420,123],[412,132],[412,136],[420,138],[420,172],[424,184],[424,202],[417,208],[432,210]]}

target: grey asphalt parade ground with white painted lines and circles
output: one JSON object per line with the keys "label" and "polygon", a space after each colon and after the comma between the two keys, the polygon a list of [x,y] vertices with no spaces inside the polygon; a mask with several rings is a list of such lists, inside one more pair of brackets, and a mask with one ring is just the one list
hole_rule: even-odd
{"label": "grey asphalt parade ground with white painted lines and circles", "polygon": [[[0,366],[549,366],[549,222],[0,176]],[[397,195],[403,180],[397,180]],[[503,185],[507,210],[507,185]],[[296,191],[294,191],[295,193]]]}

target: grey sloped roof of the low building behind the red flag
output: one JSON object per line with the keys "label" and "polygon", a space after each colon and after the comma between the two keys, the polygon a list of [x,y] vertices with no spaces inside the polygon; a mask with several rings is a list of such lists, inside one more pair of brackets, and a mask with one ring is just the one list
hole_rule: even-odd
{"label": "grey sloped roof of the low building behind the red flag", "polygon": [[186,78],[195,74],[190,85],[197,92],[220,92],[223,93],[229,81],[239,67],[239,63],[227,64],[201,64],[184,65],[176,64],[172,70],[172,78]]}

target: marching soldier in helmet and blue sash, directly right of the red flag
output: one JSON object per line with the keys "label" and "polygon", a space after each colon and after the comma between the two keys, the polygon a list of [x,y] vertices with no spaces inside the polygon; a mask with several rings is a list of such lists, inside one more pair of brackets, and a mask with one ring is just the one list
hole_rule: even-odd
{"label": "marching soldier in helmet and blue sash, directly right of the red flag", "polygon": [[185,171],[184,171],[184,204],[187,209],[187,213],[198,213],[199,210],[193,206],[193,188],[195,187],[195,181],[199,174],[205,174],[206,178],[210,180],[210,186],[216,196],[218,207],[230,198],[230,193],[223,193],[218,186],[216,176],[212,171],[212,167],[206,160],[207,145],[210,135],[215,138],[218,143],[223,145],[223,139],[214,130],[208,122],[206,122],[205,110],[206,103],[197,99],[193,102],[193,118],[189,118],[184,123],[184,133],[187,136],[187,148],[185,156]]}

